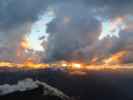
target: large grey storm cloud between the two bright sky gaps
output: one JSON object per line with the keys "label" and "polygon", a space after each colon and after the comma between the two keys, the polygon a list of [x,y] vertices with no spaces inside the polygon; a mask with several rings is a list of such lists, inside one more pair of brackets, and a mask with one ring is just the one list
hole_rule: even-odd
{"label": "large grey storm cloud between the two bright sky gaps", "polygon": [[[117,43],[120,41],[117,38],[108,37],[99,41],[98,37],[101,21],[132,15],[132,5],[132,0],[72,0],[56,3],[53,5],[56,18],[47,25],[50,34],[48,59],[108,57],[124,49]],[[114,45],[118,50],[114,50]]]}

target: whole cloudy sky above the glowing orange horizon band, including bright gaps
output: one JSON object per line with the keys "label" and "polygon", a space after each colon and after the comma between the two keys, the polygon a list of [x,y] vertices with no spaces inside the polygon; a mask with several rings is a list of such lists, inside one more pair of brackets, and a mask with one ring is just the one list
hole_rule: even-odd
{"label": "whole cloudy sky above the glowing orange horizon band, including bright gaps", "polygon": [[132,62],[132,5],[132,0],[1,0],[0,60],[36,55],[41,61],[90,61],[127,51],[124,62]]}

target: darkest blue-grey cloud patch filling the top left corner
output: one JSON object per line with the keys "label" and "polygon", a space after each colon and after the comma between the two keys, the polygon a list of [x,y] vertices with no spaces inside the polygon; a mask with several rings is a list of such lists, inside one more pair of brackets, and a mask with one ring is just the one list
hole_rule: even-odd
{"label": "darkest blue-grey cloud patch filling the top left corner", "polygon": [[25,22],[34,22],[47,6],[45,0],[1,0],[0,29],[17,27]]}

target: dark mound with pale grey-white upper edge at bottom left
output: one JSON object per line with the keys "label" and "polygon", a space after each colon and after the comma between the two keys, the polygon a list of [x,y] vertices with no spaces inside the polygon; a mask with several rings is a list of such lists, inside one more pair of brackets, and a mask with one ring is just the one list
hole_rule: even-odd
{"label": "dark mound with pale grey-white upper edge at bottom left", "polygon": [[4,84],[0,86],[0,99],[27,99],[32,100],[70,100],[61,91],[44,82],[25,79],[18,84]]}

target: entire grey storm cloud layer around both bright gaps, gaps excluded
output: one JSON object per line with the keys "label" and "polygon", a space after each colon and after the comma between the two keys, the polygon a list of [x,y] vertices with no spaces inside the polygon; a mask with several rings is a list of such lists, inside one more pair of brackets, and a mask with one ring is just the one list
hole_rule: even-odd
{"label": "entire grey storm cloud layer around both bright gaps, gaps excluded", "polygon": [[50,8],[55,18],[47,25],[47,60],[107,56],[124,49],[122,44],[129,44],[123,39],[99,41],[101,22],[132,16],[132,5],[132,0],[1,0],[0,46],[16,48],[32,24]]}

